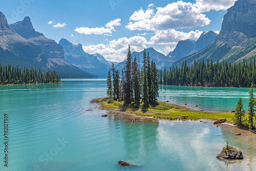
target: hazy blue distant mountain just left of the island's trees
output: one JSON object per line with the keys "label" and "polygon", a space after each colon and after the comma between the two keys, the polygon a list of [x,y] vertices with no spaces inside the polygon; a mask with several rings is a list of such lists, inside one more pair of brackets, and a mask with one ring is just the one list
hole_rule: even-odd
{"label": "hazy blue distant mountain just left of the island's trees", "polygon": [[83,51],[81,44],[73,45],[65,38],[59,40],[59,45],[64,49],[65,59],[72,65],[100,77],[106,77],[108,75],[112,65],[100,54],[91,55],[86,53]]}

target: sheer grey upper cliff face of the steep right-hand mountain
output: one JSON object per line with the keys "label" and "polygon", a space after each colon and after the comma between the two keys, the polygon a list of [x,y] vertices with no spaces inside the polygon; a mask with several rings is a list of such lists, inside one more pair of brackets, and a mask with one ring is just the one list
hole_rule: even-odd
{"label": "sheer grey upper cliff face of the steep right-hand mountain", "polygon": [[240,46],[250,37],[256,36],[256,1],[239,0],[224,15],[220,34],[216,41]]}

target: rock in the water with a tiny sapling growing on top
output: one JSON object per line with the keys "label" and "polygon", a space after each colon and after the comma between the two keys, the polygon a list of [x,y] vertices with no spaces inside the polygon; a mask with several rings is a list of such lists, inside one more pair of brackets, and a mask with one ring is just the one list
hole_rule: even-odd
{"label": "rock in the water with a tiny sapling growing on top", "polygon": [[230,147],[228,151],[226,147],[223,147],[220,154],[216,156],[217,159],[243,159],[244,156],[241,151],[238,151],[236,148]]}

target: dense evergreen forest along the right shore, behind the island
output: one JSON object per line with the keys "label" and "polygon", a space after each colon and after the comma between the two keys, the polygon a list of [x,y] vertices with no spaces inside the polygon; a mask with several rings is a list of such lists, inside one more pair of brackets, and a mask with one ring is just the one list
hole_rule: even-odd
{"label": "dense evergreen forest along the right shore, behind the island", "polygon": [[160,84],[175,86],[205,87],[246,87],[256,83],[255,59],[250,62],[227,63],[194,61],[188,66],[186,61],[181,68],[170,67],[160,71]]}

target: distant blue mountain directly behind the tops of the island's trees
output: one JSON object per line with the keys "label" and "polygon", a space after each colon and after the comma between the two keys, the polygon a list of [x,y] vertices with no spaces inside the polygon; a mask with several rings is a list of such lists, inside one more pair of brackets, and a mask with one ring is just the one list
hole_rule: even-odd
{"label": "distant blue mountain directly behind the tops of the island's trees", "polygon": [[[140,62],[139,62],[140,66],[143,65],[142,64],[143,52],[144,52],[144,50],[141,51],[141,52],[133,52],[132,53],[133,58],[136,56],[137,62],[138,62],[138,56],[140,57],[140,59],[139,59],[140,60]],[[160,52],[157,52],[154,48],[147,48],[146,53],[147,52],[150,54],[151,60],[153,60],[156,63],[156,66],[157,66],[158,69],[161,69],[164,66],[165,62],[167,62],[169,60],[168,57],[166,57],[164,54],[162,54]],[[118,65],[116,66],[116,69],[121,71],[124,68],[125,61],[126,60],[118,63]]]}

